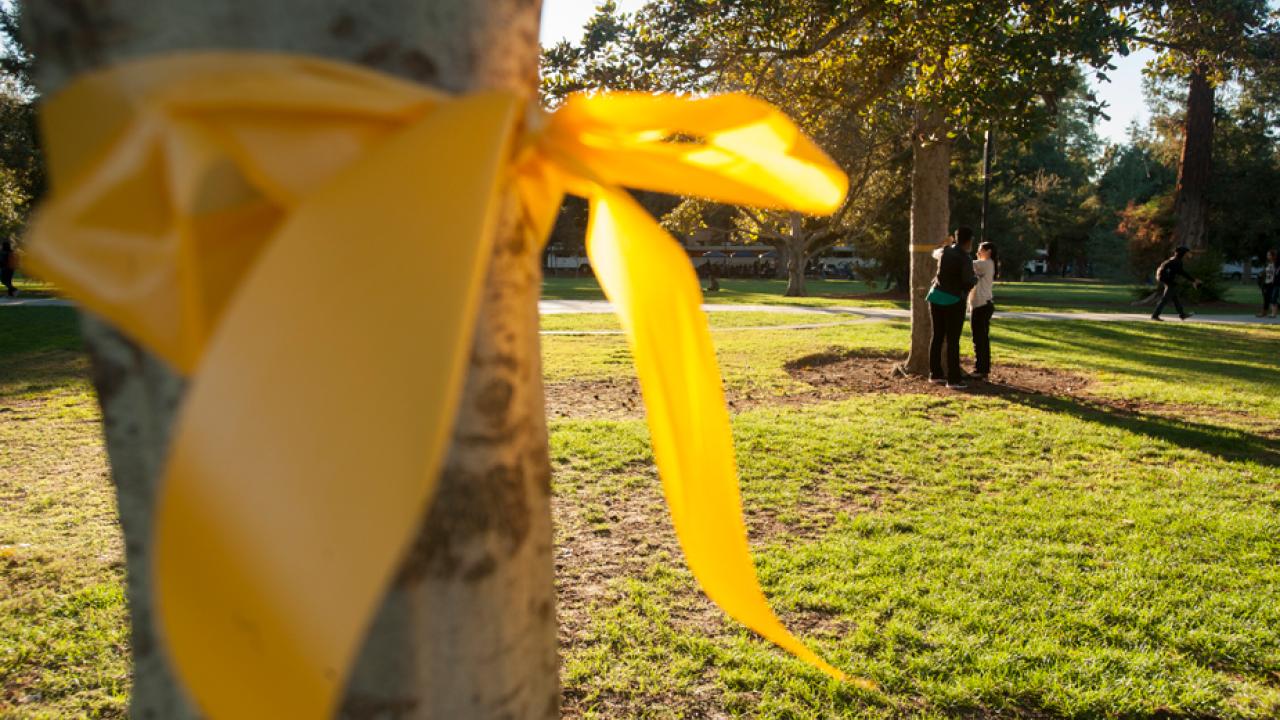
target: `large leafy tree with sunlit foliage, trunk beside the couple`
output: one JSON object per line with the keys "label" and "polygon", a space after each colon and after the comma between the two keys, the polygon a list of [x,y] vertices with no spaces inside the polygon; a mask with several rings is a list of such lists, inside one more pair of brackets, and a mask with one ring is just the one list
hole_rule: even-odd
{"label": "large leafy tree with sunlit foliage, trunk beside the couple", "polygon": [[899,132],[913,152],[906,364],[913,373],[927,369],[924,295],[933,275],[929,254],[950,229],[955,129],[1043,128],[1073,87],[1076,64],[1107,67],[1114,47],[1126,50],[1125,28],[1106,3],[678,1],[593,27],[607,29],[607,38],[589,31],[581,45],[559,45],[544,56],[545,92],[623,76],[623,87],[746,90],[781,99],[824,146],[823,99],[849,123],[901,118]]}

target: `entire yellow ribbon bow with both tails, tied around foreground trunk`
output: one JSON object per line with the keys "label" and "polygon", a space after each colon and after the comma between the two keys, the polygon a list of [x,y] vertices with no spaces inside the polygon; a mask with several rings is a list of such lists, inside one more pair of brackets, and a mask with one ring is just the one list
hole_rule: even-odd
{"label": "entire yellow ribbon bow with both tails, tied around foreground trunk", "polygon": [[[333,710],[433,495],[512,183],[539,242],[563,192],[590,200],[591,266],[703,589],[841,676],[764,600],[696,277],[621,186],[826,213],[844,174],[745,96],[579,96],[522,119],[511,94],[248,53],[129,63],[45,105],[54,190],[32,266],[192,378],[156,602],[210,716]],[[376,282],[324,290],[352,265]]]}

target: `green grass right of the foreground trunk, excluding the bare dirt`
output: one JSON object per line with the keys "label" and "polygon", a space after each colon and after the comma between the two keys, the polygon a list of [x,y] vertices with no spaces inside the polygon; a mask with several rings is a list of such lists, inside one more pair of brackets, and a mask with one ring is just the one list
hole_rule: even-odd
{"label": "green grass right of the foreground trunk, excluding the bare dirt", "polygon": [[[596,591],[566,653],[571,714],[1277,716],[1280,332],[1010,322],[996,333],[1004,361],[1085,373],[1101,395],[1178,411],[905,395],[740,414],[767,593],[881,691],[831,683],[721,619],[668,550]],[[788,393],[801,388],[783,361],[901,348],[906,328],[716,341],[730,387]],[[553,382],[632,374],[620,338],[544,348]],[[641,503],[652,527],[632,537],[618,500],[659,492],[643,421],[557,421],[552,445],[561,511],[590,534],[626,548],[669,533]]]}

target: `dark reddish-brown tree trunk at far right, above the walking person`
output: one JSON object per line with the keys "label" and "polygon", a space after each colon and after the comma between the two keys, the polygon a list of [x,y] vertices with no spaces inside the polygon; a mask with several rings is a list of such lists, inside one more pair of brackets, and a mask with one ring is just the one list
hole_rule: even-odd
{"label": "dark reddish-brown tree trunk at far right, above the walking person", "polygon": [[1178,163],[1178,188],[1174,195],[1174,246],[1203,250],[1213,158],[1213,86],[1208,82],[1208,68],[1203,64],[1192,70],[1187,91],[1187,124],[1183,129],[1183,156]]}

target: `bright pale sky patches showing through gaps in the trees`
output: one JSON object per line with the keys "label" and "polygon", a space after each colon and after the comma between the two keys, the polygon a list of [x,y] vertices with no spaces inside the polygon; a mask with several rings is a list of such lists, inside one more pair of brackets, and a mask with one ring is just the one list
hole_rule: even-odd
{"label": "bright pale sky patches showing through gaps in the trees", "polygon": [[[618,0],[618,9],[625,13],[634,12],[645,0]],[[552,45],[561,40],[577,41],[581,37],[582,26],[595,12],[598,0],[543,0],[543,45]],[[1107,104],[1106,113],[1110,120],[1100,120],[1097,126],[1098,136],[1107,142],[1120,143],[1128,137],[1129,123],[1147,119],[1147,109],[1142,96],[1142,68],[1149,60],[1152,53],[1140,50],[1126,58],[1111,60],[1116,69],[1107,73],[1110,82],[1092,81],[1094,92]]]}

